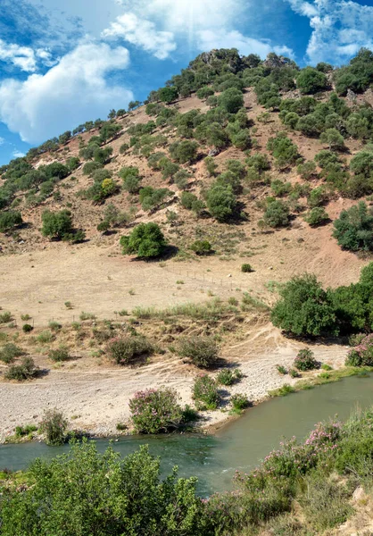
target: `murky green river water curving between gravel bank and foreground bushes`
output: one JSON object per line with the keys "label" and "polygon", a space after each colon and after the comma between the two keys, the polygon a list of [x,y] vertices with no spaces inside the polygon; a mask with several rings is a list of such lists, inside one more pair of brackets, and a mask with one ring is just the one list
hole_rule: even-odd
{"label": "murky green river water curving between gravel bank and foreground bushes", "polygon": [[[236,469],[247,473],[283,438],[303,440],[315,423],[335,415],[344,420],[357,408],[369,406],[373,406],[373,377],[355,376],[264,402],[214,436],[129,436],[112,445],[125,456],[148,444],[154,456],[161,456],[163,474],[178,465],[180,476],[198,477],[199,492],[209,495],[231,489]],[[100,451],[108,445],[109,440],[97,440]],[[25,469],[36,457],[52,458],[68,449],[38,442],[1,445],[0,468]]]}

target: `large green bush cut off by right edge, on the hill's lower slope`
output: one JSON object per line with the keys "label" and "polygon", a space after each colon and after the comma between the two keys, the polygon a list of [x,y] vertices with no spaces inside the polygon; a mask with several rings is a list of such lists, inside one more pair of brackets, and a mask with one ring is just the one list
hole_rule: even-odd
{"label": "large green bush cut off by right edge, on the hill's lower slope", "polygon": [[373,214],[361,201],[348,210],[343,210],[334,222],[333,236],[344,249],[351,251],[373,249]]}

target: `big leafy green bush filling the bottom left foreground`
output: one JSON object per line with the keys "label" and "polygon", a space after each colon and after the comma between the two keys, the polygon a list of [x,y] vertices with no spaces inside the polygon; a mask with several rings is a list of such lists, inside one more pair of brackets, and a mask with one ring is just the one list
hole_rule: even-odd
{"label": "big leafy green bush filling the bottom left foreground", "polygon": [[52,461],[34,462],[29,478],[32,486],[2,497],[4,536],[213,534],[205,532],[196,479],[178,479],[175,469],[161,480],[160,460],[146,446],[121,459],[85,440]]}

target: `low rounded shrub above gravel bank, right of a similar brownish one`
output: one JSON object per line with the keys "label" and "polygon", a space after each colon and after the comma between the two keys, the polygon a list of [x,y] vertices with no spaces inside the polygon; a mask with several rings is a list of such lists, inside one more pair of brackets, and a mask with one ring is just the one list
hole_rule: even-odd
{"label": "low rounded shrub above gravel bank, right of a similar brownish one", "polygon": [[219,358],[219,348],[211,337],[182,337],[178,341],[178,355],[187,357],[195,366],[210,367]]}

